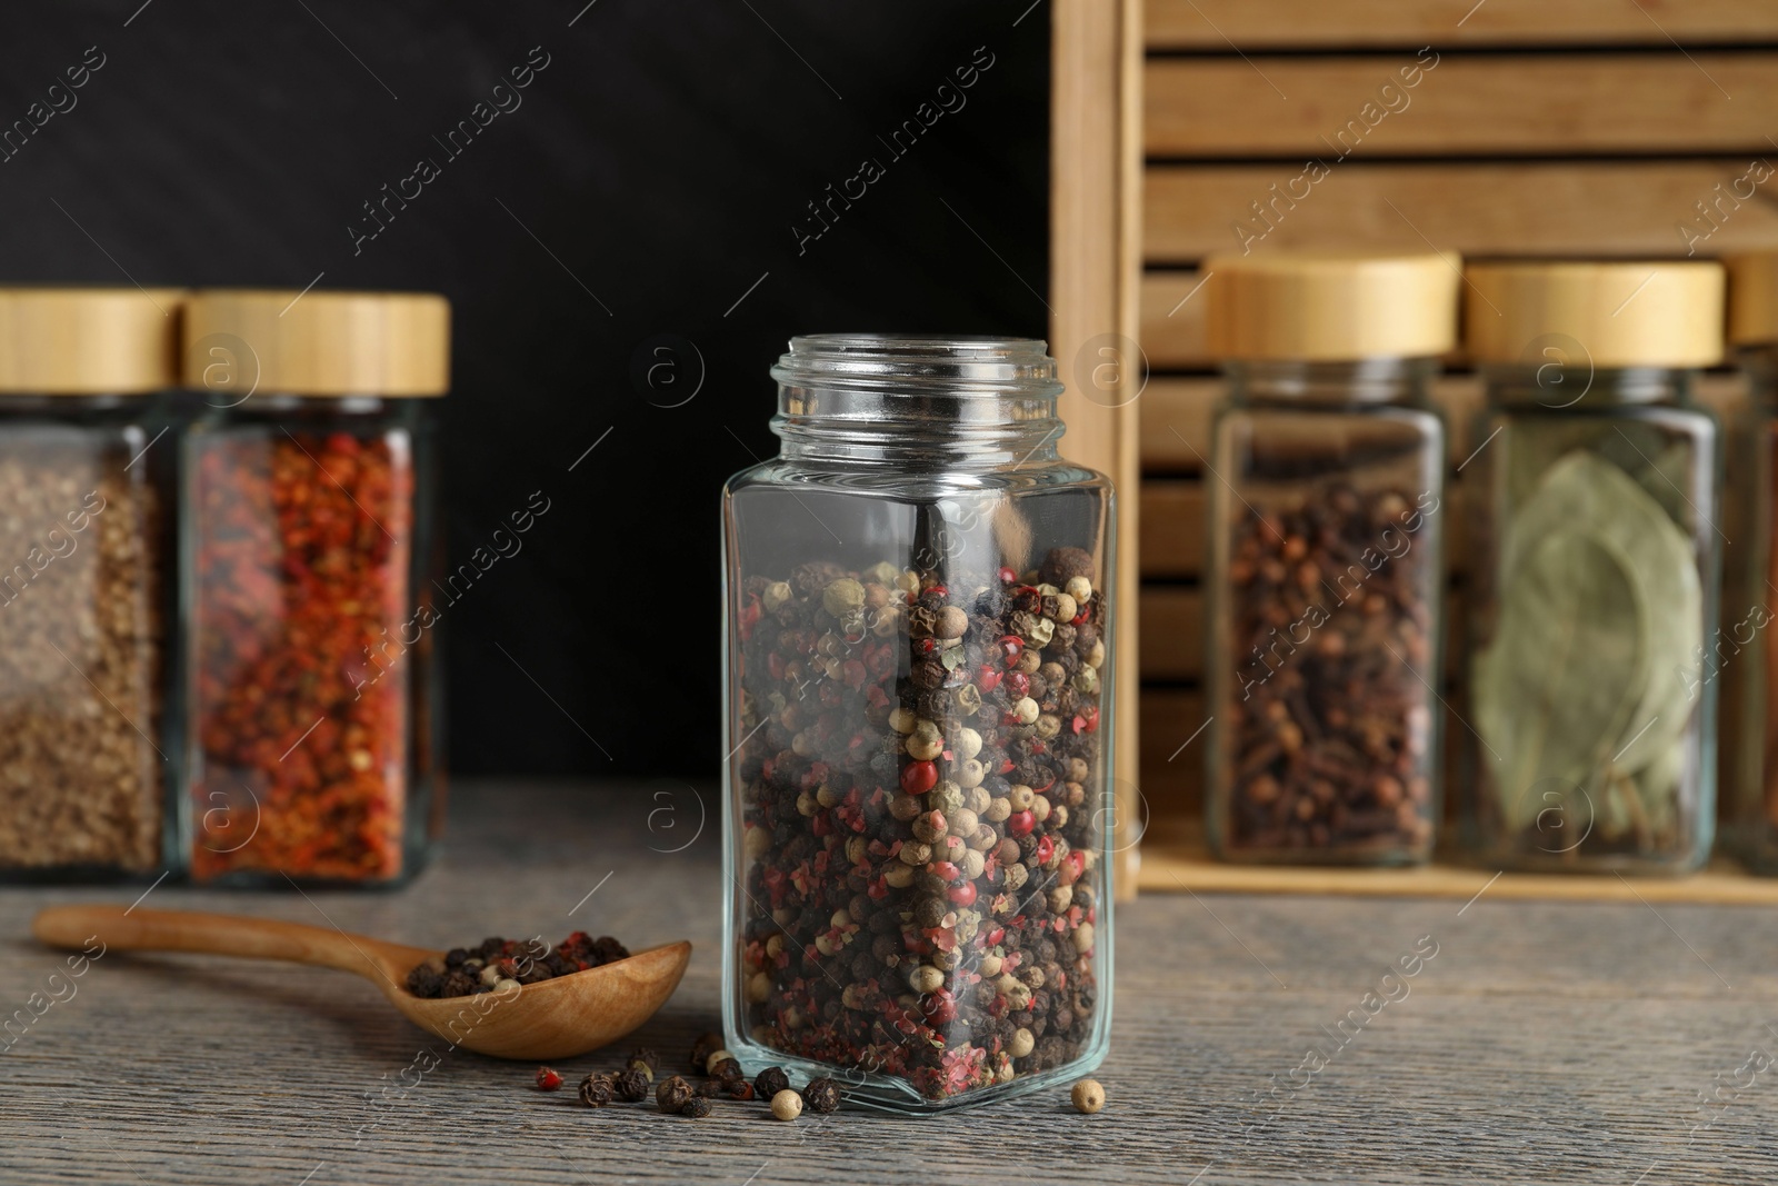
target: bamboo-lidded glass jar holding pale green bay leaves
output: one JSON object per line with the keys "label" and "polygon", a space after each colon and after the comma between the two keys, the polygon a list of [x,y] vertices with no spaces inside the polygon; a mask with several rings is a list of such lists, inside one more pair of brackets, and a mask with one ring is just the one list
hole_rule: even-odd
{"label": "bamboo-lidded glass jar holding pale green bay leaves", "polygon": [[1486,263],[1463,473],[1463,832],[1495,868],[1694,869],[1716,807],[1716,263]]}

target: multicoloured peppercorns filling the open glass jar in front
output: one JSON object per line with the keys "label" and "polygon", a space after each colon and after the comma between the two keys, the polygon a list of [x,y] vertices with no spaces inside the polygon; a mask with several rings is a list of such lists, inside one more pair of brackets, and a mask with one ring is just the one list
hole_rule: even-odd
{"label": "multicoloured peppercorns filling the open glass jar in front", "polygon": [[973,587],[823,562],[743,583],[756,1042],[928,1099],[1079,1056],[1102,893],[1093,580],[1090,553],[1056,548]]}

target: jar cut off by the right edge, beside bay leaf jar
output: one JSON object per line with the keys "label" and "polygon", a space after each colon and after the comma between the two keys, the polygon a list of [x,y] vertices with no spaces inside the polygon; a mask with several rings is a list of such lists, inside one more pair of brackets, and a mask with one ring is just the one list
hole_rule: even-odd
{"label": "jar cut off by the right edge, beside bay leaf jar", "polygon": [[[1778,873],[1778,251],[1730,256],[1728,340],[1750,388],[1730,432],[1723,621],[1705,647],[1723,695],[1723,839]],[[1707,676],[1709,677],[1709,676]]]}

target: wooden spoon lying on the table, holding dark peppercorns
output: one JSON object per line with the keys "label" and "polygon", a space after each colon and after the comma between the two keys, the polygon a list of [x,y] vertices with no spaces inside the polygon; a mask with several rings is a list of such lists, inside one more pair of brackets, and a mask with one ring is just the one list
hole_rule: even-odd
{"label": "wooden spoon lying on the table, holding dark peppercorns", "polygon": [[615,1042],[667,1003],[692,958],[690,942],[670,942],[517,990],[434,999],[409,992],[407,973],[443,951],[343,930],[233,914],[50,907],[32,932],[55,948],[78,950],[98,935],[117,951],[206,951],[338,967],[375,983],[407,1021],[450,1044],[523,1060],[571,1058]]}

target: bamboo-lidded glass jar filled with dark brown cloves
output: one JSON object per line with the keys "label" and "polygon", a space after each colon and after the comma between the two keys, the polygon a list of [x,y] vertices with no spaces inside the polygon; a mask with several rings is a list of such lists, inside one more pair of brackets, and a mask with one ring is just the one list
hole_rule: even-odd
{"label": "bamboo-lidded glass jar filled with dark brown cloves", "polygon": [[[1438,804],[1453,263],[1205,261],[1213,430],[1205,823],[1229,861],[1412,864]],[[1182,733],[1197,722],[1179,722]]]}

